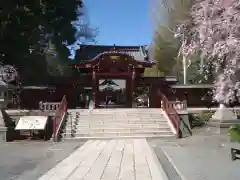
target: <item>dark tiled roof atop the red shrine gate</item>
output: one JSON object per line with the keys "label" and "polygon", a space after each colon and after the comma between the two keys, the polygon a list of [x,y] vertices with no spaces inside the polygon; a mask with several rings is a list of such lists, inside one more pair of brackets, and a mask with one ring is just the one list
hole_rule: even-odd
{"label": "dark tiled roof atop the red shrine gate", "polygon": [[76,51],[76,61],[92,60],[99,54],[110,52],[119,52],[129,54],[135,60],[140,62],[151,62],[148,59],[147,46],[100,46],[100,45],[81,45],[80,49]]}

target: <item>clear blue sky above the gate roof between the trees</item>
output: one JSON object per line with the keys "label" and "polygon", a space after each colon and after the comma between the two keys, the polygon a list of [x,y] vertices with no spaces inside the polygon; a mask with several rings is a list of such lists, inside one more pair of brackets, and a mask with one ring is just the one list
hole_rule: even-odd
{"label": "clear blue sky above the gate roof between the trees", "polygon": [[101,45],[144,45],[152,38],[149,0],[84,0]]}

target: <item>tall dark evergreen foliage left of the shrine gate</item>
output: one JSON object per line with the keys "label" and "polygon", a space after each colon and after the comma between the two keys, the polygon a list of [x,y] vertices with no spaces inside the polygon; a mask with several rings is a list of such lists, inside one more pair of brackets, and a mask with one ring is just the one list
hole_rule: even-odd
{"label": "tall dark evergreen foliage left of the shrine gate", "polygon": [[21,79],[44,82],[49,42],[67,60],[76,41],[72,23],[83,14],[81,0],[0,0],[0,61],[14,65]]}

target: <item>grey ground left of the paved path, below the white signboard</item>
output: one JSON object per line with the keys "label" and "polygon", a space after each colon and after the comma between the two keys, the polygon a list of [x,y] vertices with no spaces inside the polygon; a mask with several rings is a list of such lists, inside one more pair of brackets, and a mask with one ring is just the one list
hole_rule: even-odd
{"label": "grey ground left of the paved path, below the white signboard", "polygon": [[0,179],[35,180],[85,141],[19,141],[0,144]]}

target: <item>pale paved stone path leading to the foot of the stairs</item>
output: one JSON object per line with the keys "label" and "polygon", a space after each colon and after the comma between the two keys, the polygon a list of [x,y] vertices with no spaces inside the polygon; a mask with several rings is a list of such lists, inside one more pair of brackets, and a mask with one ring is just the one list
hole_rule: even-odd
{"label": "pale paved stone path leading to the foot of the stairs", "polygon": [[146,139],[90,140],[39,180],[167,180]]}

